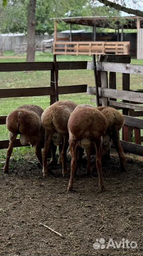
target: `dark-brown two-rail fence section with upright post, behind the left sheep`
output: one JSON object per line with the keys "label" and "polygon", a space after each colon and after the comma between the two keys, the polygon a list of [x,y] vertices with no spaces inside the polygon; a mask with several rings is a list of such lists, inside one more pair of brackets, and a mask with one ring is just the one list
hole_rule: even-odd
{"label": "dark-brown two-rail fence section with upright post, behind the left sheep", "polygon": [[[87,68],[87,61],[80,62],[29,62],[29,63],[0,63],[0,72],[16,71],[50,71],[49,87],[0,89],[0,98],[29,97],[50,95],[50,104],[59,99],[59,94],[86,92],[87,84],[67,85],[58,87],[59,70],[80,70]],[[0,125],[6,123],[7,116],[0,116]],[[14,147],[22,146],[19,139]],[[8,140],[0,141],[0,149],[8,148]]]}

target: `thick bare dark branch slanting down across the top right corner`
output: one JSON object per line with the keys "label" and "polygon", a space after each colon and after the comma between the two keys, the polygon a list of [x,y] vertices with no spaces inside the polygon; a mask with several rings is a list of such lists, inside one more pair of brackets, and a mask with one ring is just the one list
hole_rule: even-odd
{"label": "thick bare dark branch slanting down across the top right corner", "polygon": [[[93,0],[93,2],[94,1],[95,0]],[[141,11],[141,10],[138,10],[138,9],[135,10],[135,9],[127,8],[126,6],[120,5],[120,4],[115,3],[115,2],[111,2],[109,0],[98,0],[98,1],[105,4],[106,6],[114,8],[114,9],[124,11],[124,12],[129,13],[129,14],[134,14],[136,16],[143,17],[143,11]]]}

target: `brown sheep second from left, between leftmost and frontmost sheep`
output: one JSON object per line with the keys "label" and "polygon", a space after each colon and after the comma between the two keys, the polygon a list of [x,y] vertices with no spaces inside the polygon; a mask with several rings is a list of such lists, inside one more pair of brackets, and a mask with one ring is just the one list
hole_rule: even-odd
{"label": "brown sheep second from left, between leftmost and frontmost sheep", "polygon": [[57,101],[48,107],[42,113],[42,126],[45,128],[45,145],[42,152],[43,158],[43,176],[48,177],[49,167],[47,166],[47,153],[50,149],[50,142],[54,140],[57,134],[58,140],[56,146],[61,145],[61,162],[63,177],[67,175],[66,155],[68,148],[67,122],[70,114],[76,108],[77,104],[72,101]]}

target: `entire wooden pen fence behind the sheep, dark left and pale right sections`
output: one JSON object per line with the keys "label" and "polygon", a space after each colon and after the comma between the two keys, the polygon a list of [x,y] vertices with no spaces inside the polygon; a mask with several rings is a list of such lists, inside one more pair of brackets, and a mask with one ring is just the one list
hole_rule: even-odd
{"label": "entire wooden pen fence behind the sheep, dark left and pale right sections", "polygon": [[[87,87],[87,84],[58,86],[59,70],[95,70],[93,62],[57,62],[56,56],[54,56],[53,62],[0,63],[0,72],[40,70],[50,71],[49,87],[0,89],[0,98],[50,95],[50,104],[52,104],[59,99],[59,94],[80,93],[87,91],[89,94],[96,95],[98,91],[101,98],[100,102],[103,106],[109,105],[111,107],[123,110],[125,125],[123,129],[124,140],[122,140],[121,143],[124,150],[143,156],[143,146],[141,145],[142,137],[140,136],[140,129],[143,129],[143,119],[128,116],[130,114],[130,110],[137,110],[135,112],[140,112],[140,116],[143,116],[143,106],[141,105],[143,104],[143,93],[129,91],[130,74],[143,74],[143,66],[131,65],[129,62],[129,55],[101,55],[99,57],[99,62],[96,63],[99,87]],[[124,91],[116,90],[116,73],[123,73],[122,84]],[[117,99],[122,101],[118,102],[116,101]],[[0,116],[0,125],[5,123],[6,116]],[[135,129],[136,143],[129,142],[129,127],[134,127]],[[14,146],[21,146],[19,139],[16,140]],[[0,141],[0,149],[7,147],[8,140]]]}

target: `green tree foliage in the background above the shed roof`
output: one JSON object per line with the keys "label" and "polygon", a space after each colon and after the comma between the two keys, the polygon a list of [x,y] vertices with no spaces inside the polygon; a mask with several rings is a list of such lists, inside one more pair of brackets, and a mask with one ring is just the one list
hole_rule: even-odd
{"label": "green tree foliage in the background above the shed roof", "polygon": [[[3,0],[0,1],[0,33],[26,33],[29,0],[8,0],[7,2],[4,8]],[[97,3],[91,0],[36,0],[35,33],[52,34],[54,22],[51,18],[118,15],[117,10],[106,6],[102,8]],[[60,22],[57,28],[61,31],[69,29],[69,25]],[[73,29],[78,28],[80,28],[79,25],[73,26]]]}

